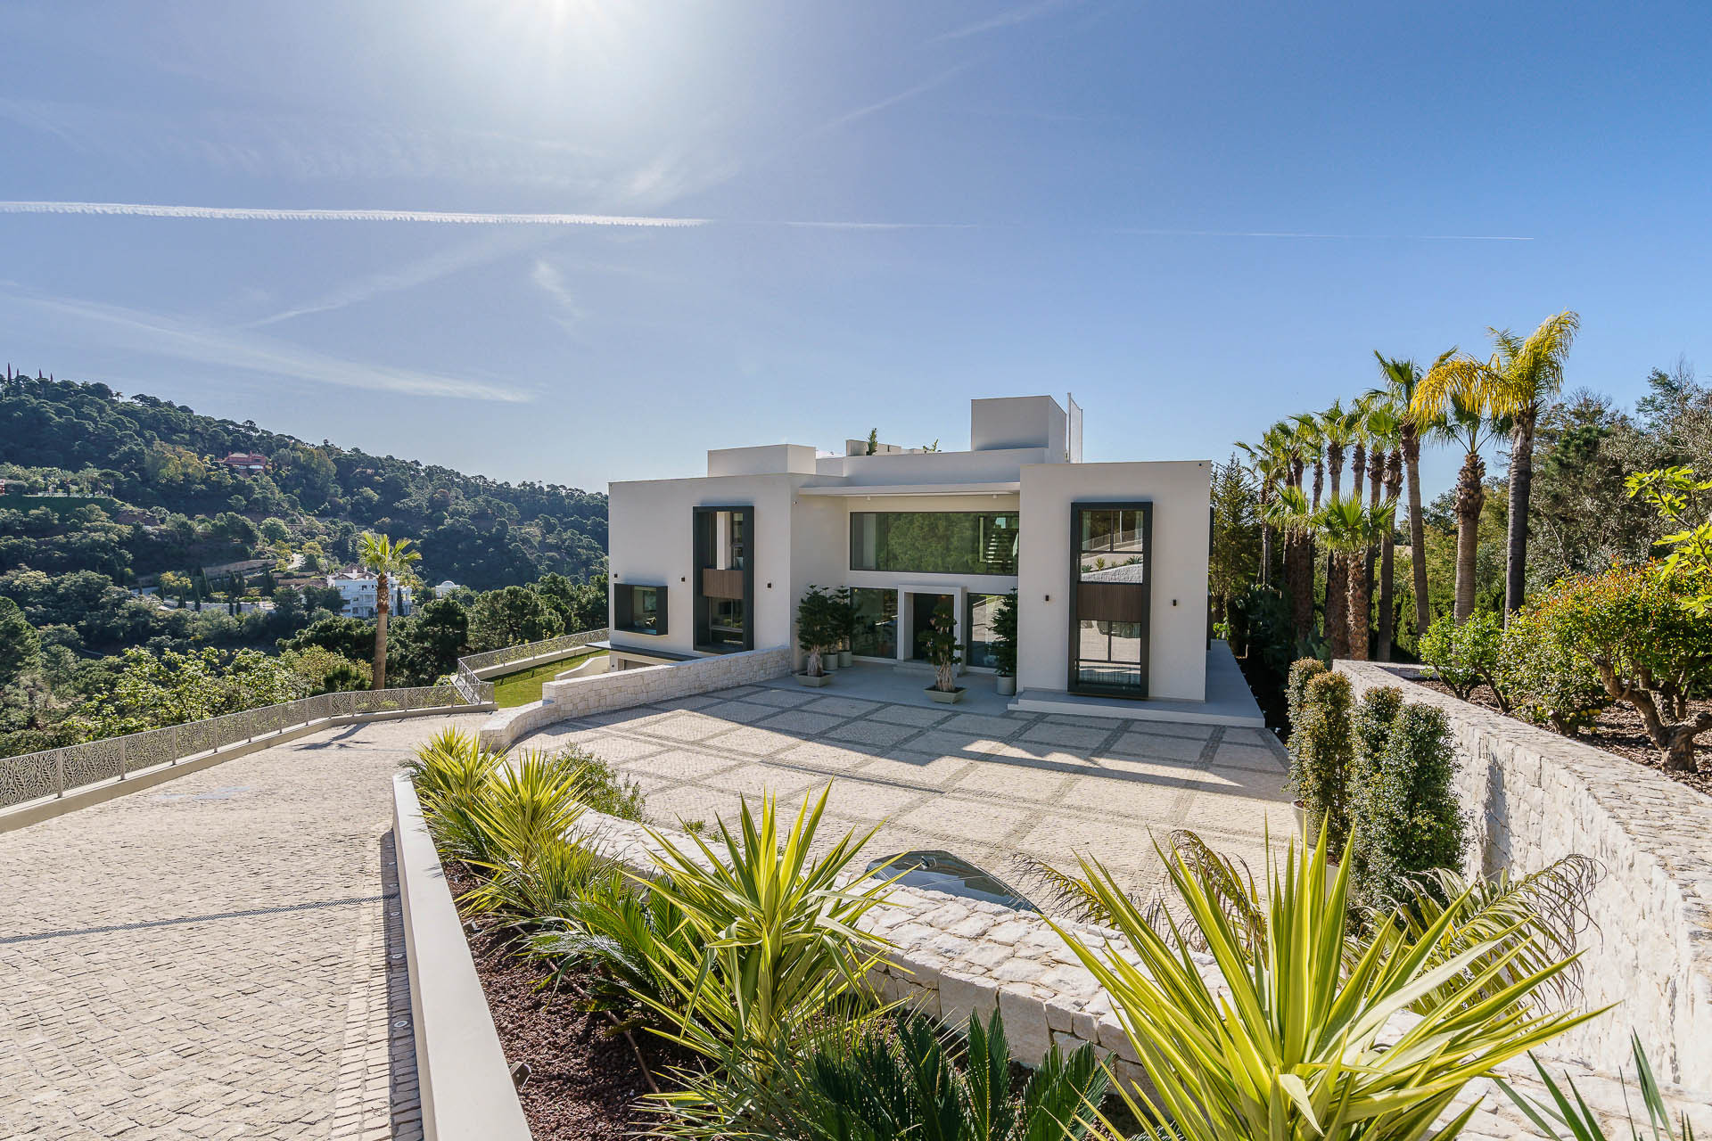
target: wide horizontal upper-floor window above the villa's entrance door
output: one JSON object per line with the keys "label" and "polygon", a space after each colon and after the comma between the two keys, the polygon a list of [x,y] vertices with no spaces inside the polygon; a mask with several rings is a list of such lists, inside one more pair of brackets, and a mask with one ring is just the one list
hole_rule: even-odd
{"label": "wide horizontal upper-floor window above the villa's entrance door", "polygon": [[851,511],[851,570],[1015,575],[1017,511]]}

